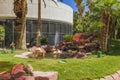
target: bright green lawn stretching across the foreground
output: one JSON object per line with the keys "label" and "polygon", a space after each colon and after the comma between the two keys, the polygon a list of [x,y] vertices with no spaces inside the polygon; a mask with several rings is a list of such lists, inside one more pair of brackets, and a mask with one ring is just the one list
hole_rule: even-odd
{"label": "bright green lawn stretching across the foreground", "polygon": [[31,64],[37,71],[57,71],[59,80],[93,80],[120,70],[120,41],[114,41],[114,44],[109,55],[103,55],[102,58],[91,55],[84,59],[64,59],[66,63],[60,63],[61,59],[14,58],[15,53],[21,53],[21,50],[14,54],[0,54],[0,71],[10,71],[13,65],[24,63]]}

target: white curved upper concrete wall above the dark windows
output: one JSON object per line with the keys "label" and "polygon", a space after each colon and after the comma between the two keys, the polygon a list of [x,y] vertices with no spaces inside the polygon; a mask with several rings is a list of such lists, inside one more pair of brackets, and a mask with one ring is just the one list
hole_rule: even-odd
{"label": "white curved upper concrete wall above the dark windows", "polygon": [[[15,18],[13,12],[13,1],[14,0],[0,0],[0,19],[11,19]],[[28,19],[37,19],[38,16],[38,0],[27,0],[28,2]],[[43,1],[43,0],[41,0]],[[42,19],[55,20],[61,22],[67,22],[73,24],[73,10],[71,7],[57,2],[57,5],[51,0],[45,0],[46,8],[42,2]]]}

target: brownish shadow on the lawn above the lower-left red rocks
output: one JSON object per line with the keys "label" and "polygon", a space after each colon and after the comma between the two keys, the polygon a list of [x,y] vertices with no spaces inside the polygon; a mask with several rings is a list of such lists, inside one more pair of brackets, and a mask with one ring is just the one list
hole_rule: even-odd
{"label": "brownish shadow on the lawn above the lower-left red rocks", "polygon": [[0,72],[2,71],[10,72],[13,66],[14,64],[8,61],[0,61]]}

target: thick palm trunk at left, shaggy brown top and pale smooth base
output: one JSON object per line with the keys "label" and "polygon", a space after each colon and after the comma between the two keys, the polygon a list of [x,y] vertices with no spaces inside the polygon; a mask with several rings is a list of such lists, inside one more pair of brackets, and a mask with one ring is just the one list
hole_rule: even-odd
{"label": "thick palm trunk at left, shaggy brown top and pale smooth base", "polygon": [[17,32],[16,47],[26,49],[26,14],[27,1],[14,0],[14,13],[16,17],[15,30]]}

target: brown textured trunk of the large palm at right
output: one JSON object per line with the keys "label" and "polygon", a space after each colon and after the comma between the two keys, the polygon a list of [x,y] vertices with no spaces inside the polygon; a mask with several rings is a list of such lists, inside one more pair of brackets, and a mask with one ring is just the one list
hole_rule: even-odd
{"label": "brown textured trunk of the large palm at right", "polygon": [[101,39],[100,39],[100,47],[103,52],[107,52],[108,50],[108,38],[109,38],[109,22],[110,15],[104,11],[101,17],[101,21],[105,24],[103,28],[100,29]]}

